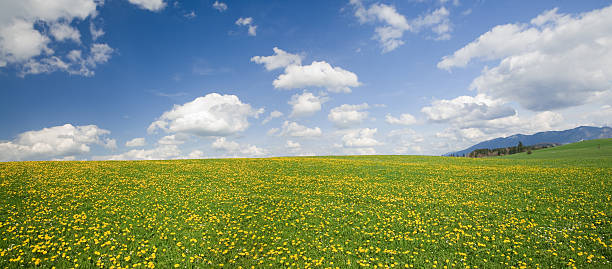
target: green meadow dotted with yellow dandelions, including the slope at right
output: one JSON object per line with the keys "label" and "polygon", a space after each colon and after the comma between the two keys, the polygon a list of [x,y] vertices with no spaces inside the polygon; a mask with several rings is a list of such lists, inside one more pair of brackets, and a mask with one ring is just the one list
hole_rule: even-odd
{"label": "green meadow dotted with yellow dandelions, including the slope at right", "polygon": [[519,160],[0,163],[0,267],[610,268],[601,145]]}

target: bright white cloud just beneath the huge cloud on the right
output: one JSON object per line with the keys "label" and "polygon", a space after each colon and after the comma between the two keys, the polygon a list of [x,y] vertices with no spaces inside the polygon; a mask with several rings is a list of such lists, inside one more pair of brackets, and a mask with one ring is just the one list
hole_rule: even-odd
{"label": "bright white cloud just beneath the huge cloud on the right", "polygon": [[471,124],[513,116],[516,111],[500,100],[493,100],[484,94],[459,96],[451,100],[435,100],[431,106],[421,109],[433,122]]}

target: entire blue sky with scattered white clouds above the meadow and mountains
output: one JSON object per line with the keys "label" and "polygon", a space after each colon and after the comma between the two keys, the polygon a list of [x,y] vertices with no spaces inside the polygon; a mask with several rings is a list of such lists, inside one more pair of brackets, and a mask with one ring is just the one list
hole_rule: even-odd
{"label": "entire blue sky with scattered white clouds above the meadow and mountains", "polygon": [[611,105],[610,1],[0,2],[0,161],[441,155]]}

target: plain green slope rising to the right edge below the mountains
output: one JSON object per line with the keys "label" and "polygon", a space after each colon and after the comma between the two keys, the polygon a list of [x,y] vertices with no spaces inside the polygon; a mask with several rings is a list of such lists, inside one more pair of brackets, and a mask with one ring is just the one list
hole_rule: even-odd
{"label": "plain green slope rising to the right edge below the mountains", "polygon": [[587,140],[554,148],[502,156],[503,159],[612,160],[612,138]]}

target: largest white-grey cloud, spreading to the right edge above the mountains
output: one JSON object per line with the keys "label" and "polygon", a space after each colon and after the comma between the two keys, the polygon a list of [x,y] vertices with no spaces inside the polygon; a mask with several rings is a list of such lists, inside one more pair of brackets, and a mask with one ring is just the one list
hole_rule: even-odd
{"label": "largest white-grey cloud, spreading to the right edge above the mountains", "polygon": [[493,27],[445,56],[450,70],[474,60],[485,67],[471,88],[533,111],[586,104],[612,89],[612,6],[579,15],[546,11],[530,23]]}

